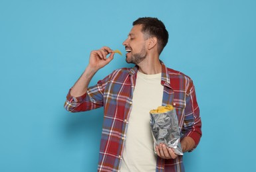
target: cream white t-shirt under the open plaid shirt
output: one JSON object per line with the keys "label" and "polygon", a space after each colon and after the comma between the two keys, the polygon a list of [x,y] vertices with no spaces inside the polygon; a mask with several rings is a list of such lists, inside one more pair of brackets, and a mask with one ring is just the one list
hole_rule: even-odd
{"label": "cream white t-shirt under the open plaid shirt", "polygon": [[157,155],[154,153],[149,112],[162,105],[163,91],[161,73],[146,75],[138,71],[121,172],[156,171]]}

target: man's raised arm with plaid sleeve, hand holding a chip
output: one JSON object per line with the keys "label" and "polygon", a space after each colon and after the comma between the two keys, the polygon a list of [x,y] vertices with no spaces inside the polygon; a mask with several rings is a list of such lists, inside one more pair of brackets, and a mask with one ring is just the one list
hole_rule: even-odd
{"label": "man's raised arm with plaid sleeve, hand holding a chip", "polygon": [[[110,56],[106,58],[108,54]],[[84,73],[82,73],[81,77],[76,81],[66,96],[66,102],[64,103],[66,110],[70,112],[81,112],[102,107],[102,92],[105,83],[108,81],[108,77],[98,81],[97,85],[91,87],[90,90],[88,90],[88,85],[96,71],[107,65],[113,58],[114,52],[106,46],[90,53],[88,67],[86,67]]]}

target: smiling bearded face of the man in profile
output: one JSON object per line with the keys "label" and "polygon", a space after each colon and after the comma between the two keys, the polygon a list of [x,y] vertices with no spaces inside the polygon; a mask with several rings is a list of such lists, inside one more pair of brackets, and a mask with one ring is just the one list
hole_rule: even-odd
{"label": "smiling bearded face of the man in profile", "polygon": [[126,62],[128,64],[139,64],[146,56],[146,40],[142,33],[142,25],[138,24],[132,27],[128,38],[123,42],[126,49]]}

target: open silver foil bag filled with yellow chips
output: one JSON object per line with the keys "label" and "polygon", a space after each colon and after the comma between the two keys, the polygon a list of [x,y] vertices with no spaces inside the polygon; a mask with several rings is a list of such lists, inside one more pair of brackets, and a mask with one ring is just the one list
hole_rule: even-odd
{"label": "open silver foil bag filled with yellow chips", "polygon": [[178,117],[172,105],[150,110],[150,127],[154,138],[154,149],[156,145],[163,143],[172,148],[177,155],[183,155]]}

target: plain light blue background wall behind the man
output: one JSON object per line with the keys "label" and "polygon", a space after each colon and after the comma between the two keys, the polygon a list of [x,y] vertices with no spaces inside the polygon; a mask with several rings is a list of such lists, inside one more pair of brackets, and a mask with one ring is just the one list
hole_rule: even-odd
{"label": "plain light blue background wall behind the man", "polygon": [[[123,53],[132,22],[158,17],[161,59],[192,77],[203,137],[187,171],[256,171],[256,1],[0,1],[0,171],[96,171],[102,108],[63,108],[91,50]],[[124,56],[96,73],[92,83]]]}

